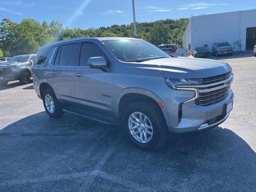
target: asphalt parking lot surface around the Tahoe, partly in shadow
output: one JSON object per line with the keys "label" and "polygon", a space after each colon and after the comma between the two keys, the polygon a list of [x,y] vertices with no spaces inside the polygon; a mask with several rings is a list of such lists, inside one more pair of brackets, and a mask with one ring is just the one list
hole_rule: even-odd
{"label": "asphalt parking lot surface around the Tahoe, partly in shadow", "polygon": [[32,83],[0,86],[0,191],[256,191],[256,57],[219,57],[235,74],[226,122],[153,152],[120,127],[50,118]]}

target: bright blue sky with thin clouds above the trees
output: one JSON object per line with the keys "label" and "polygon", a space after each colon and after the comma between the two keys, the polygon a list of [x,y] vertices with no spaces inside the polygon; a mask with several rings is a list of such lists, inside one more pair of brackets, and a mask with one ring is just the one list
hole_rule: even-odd
{"label": "bright blue sky with thin clouds above the trees", "polygon": [[[256,9],[256,0],[135,0],[137,22]],[[130,24],[132,0],[0,0],[0,20],[60,21],[70,28]]]}

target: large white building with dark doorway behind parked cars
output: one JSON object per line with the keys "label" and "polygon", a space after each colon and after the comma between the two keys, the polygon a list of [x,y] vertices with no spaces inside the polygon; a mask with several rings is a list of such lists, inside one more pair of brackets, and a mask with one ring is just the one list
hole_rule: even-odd
{"label": "large white building with dark doorway behind parked cars", "polygon": [[[256,9],[190,18],[183,36],[185,48],[191,45],[190,50],[193,50],[208,44],[211,52],[217,41],[228,41],[234,51],[253,49],[256,44]],[[241,46],[234,44],[236,42],[241,42]]]}

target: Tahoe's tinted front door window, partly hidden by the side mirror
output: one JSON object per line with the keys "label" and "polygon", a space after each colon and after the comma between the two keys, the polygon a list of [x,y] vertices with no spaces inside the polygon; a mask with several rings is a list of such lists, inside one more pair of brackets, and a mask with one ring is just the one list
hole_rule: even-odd
{"label": "Tahoe's tinted front door window, partly hidden by the side mirror", "polygon": [[105,58],[107,64],[109,65],[109,60],[102,49],[95,43],[83,43],[80,55],[80,66],[88,66],[87,62],[90,57],[102,56]]}

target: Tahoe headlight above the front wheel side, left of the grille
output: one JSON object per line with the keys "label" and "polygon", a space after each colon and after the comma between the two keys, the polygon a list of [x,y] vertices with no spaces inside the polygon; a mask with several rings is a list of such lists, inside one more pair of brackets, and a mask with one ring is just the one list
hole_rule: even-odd
{"label": "Tahoe headlight above the front wheel side, left of the grille", "polygon": [[173,89],[177,89],[179,86],[191,86],[191,85],[203,85],[202,79],[174,79],[165,78],[166,84]]}

